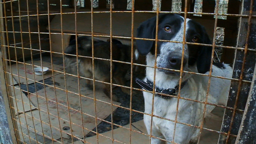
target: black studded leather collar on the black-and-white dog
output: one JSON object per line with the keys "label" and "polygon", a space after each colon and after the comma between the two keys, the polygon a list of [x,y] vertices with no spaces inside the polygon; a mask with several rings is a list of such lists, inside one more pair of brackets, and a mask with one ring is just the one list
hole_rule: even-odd
{"label": "black studded leather collar on the black-and-white dog", "polygon": [[[136,78],[135,82],[137,84],[139,84],[143,89],[145,89],[147,91],[153,91],[153,82],[149,81],[148,79],[147,79],[147,82],[144,82],[143,80]],[[187,84],[187,82],[188,82],[188,80],[185,80],[184,82],[182,82],[180,89],[182,89],[184,87],[184,85]],[[159,89],[158,87],[155,87],[155,88],[156,88],[155,92],[176,96],[179,91],[179,84],[176,85],[174,88],[168,88],[168,89]],[[155,96],[158,96],[158,97],[164,98],[164,99],[172,98],[170,96],[165,96],[162,94],[161,95],[155,94]]]}

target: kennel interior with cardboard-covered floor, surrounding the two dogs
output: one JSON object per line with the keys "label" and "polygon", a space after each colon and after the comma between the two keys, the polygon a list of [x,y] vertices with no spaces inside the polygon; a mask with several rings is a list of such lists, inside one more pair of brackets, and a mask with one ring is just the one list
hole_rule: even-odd
{"label": "kennel interior with cardboard-covered floor, surrounding the two dogs", "polygon": [[[118,39],[135,51],[136,29],[159,13],[202,24],[215,42],[213,61],[233,67],[227,105],[201,101],[215,108],[201,127],[190,125],[202,132],[198,143],[256,143],[255,0],[1,0],[0,9],[2,143],[150,143],[142,90],[133,79],[145,76],[145,61],[131,54],[126,63],[133,65],[123,85],[130,95],[110,82],[116,102],[102,82],[89,79],[95,85],[89,89],[66,73],[63,56],[77,36]],[[36,67],[49,70],[37,76]]]}

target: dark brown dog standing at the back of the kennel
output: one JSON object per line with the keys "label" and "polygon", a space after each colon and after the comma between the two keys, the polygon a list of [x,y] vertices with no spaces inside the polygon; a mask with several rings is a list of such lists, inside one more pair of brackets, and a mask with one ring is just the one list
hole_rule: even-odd
{"label": "dark brown dog standing at the back of the kennel", "polygon": [[[105,42],[94,38],[94,57],[108,60],[94,59],[94,76],[96,80],[110,83],[110,42]],[[90,36],[80,36],[77,38],[77,48],[79,56],[92,57],[92,38]],[[66,54],[76,55],[76,39],[70,41],[65,50]],[[131,47],[122,44],[118,40],[112,40],[112,59],[124,62],[131,61]],[[67,73],[77,74],[76,56],[65,55],[65,69]],[[86,78],[92,77],[92,58],[78,57],[79,75]],[[131,68],[130,64],[112,62],[112,78],[114,84],[126,85],[125,75]],[[92,80],[85,79],[86,85],[92,88]],[[110,97],[110,84],[104,84],[104,93]],[[130,89],[121,87],[124,93],[129,94]],[[116,100],[116,97],[113,97]]]}

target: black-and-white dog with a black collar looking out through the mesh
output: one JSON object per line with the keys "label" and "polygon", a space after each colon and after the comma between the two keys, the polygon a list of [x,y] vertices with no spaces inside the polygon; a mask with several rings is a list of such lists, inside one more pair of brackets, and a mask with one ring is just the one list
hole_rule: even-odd
{"label": "black-and-white dog with a black collar looking out through the mesh", "polygon": [[[184,18],[178,14],[159,14],[158,23],[158,39],[183,41],[184,34]],[[155,39],[156,36],[156,17],[148,19],[140,24],[137,29],[137,37]],[[212,44],[205,28],[199,23],[187,19],[186,20],[186,42]],[[137,49],[142,55],[146,56],[147,65],[155,64],[155,41],[137,40]],[[182,59],[182,43],[157,42],[157,67],[180,70]],[[209,74],[212,56],[211,46],[201,46],[185,44],[183,70],[196,72],[201,74]],[[231,77],[232,68],[228,64],[213,63],[212,75]],[[180,72],[174,72],[166,69],[156,69],[156,92],[170,95],[177,95],[179,88]],[[184,73],[182,75],[182,83],[180,97],[192,100],[205,101],[208,85],[208,76],[200,76],[196,74]],[[147,67],[146,78],[144,80],[136,79],[136,82],[143,89],[152,91],[154,81],[154,68]],[[208,102],[226,105],[230,80],[211,78],[210,92]],[[143,92],[145,99],[145,113],[151,115],[153,94]],[[177,98],[169,97],[162,94],[156,94],[154,98],[153,115],[175,120],[177,107]],[[214,106],[207,105],[206,113],[209,114]],[[204,104],[191,100],[179,100],[177,121],[192,125],[201,125],[203,120]],[[173,121],[164,120],[153,117],[152,135],[172,141],[179,144],[188,144],[189,141],[196,141],[199,129],[185,124],[176,124],[175,136]],[[151,116],[144,115],[144,123],[150,133]],[[151,138],[152,143],[165,143],[157,138]]]}

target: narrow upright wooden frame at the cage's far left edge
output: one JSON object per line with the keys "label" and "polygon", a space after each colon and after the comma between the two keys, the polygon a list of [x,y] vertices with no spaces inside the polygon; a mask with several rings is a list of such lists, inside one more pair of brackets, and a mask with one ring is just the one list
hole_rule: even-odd
{"label": "narrow upright wooden frame at the cage's far left edge", "polygon": [[[0,0],[2,3],[3,1]],[[0,17],[3,17],[3,4],[0,4]],[[0,29],[4,30],[4,19],[0,20]],[[15,112],[10,107],[13,106],[11,99],[8,99],[8,95],[11,95],[12,92],[7,88],[6,84],[10,84],[9,76],[6,76],[4,70],[7,69],[6,59],[6,49],[2,45],[5,45],[5,35],[1,33],[1,47],[0,47],[0,127],[1,132],[4,132],[3,137],[1,137],[1,143],[13,143],[18,144],[20,139],[18,133],[17,122],[13,119],[15,118]],[[15,130],[16,129],[16,130]]]}

